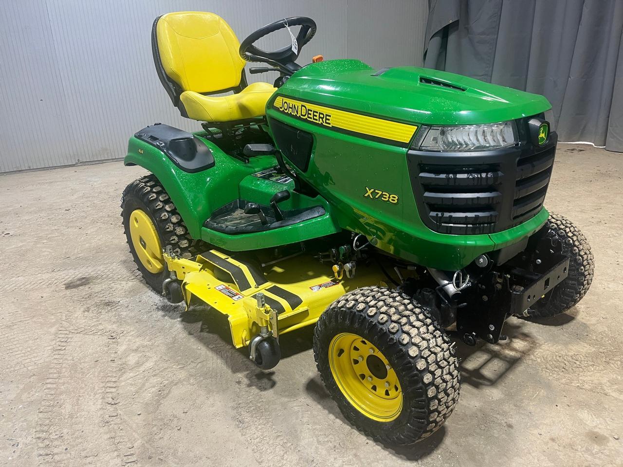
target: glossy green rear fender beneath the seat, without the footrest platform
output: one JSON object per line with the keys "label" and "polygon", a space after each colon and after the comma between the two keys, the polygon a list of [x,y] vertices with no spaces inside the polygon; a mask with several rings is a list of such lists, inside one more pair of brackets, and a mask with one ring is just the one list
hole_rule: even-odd
{"label": "glossy green rear fender beneath the seat, without the footrest platform", "polygon": [[[198,136],[198,135],[197,135]],[[193,238],[201,238],[204,221],[215,209],[238,198],[244,177],[275,165],[273,156],[252,158],[249,164],[234,159],[202,138],[214,155],[214,167],[190,174],[179,169],[151,144],[130,138],[126,165],[145,167],[163,184]]]}

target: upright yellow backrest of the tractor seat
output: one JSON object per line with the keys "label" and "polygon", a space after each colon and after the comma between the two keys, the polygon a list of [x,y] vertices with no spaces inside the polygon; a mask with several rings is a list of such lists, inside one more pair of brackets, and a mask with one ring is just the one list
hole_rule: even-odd
{"label": "upright yellow backrest of the tractor seat", "polygon": [[229,24],[214,13],[167,13],[156,24],[164,72],[184,91],[213,93],[240,84],[245,60]]}

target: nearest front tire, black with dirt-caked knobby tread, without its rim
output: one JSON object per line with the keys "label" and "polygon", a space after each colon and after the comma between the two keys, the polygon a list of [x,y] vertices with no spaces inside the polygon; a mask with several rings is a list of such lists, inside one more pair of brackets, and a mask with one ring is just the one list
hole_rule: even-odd
{"label": "nearest front tire, black with dirt-caked knobby tread, without its rim", "polygon": [[[395,420],[372,420],[341,393],[331,372],[328,349],[331,339],[344,332],[368,339],[396,371],[403,408]],[[313,351],[321,379],[344,417],[388,445],[409,445],[431,435],[459,400],[454,343],[427,308],[404,293],[369,286],[341,296],[318,319]]]}

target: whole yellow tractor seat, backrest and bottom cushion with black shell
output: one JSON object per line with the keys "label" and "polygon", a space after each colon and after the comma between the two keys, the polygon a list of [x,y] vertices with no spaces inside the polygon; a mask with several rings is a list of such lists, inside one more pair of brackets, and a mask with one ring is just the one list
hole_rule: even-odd
{"label": "whole yellow tractor seat, backrest and bottom cushion with black shell", "polygon": [[[154,22],[152,46],[160,80],[183,116],[227,122],[265,114],[275,88],[247,85],[240,43],[221,17],[195,11],[163,14]],[[229,91],[234,94],[213,96]]]}

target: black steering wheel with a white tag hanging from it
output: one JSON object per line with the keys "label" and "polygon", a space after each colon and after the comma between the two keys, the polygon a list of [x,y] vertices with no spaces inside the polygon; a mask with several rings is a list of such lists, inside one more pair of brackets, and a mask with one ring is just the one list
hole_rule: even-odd
{"label": "black steering wheel with a white tag hanging from it", "polygon": [[[275,50],[273,52],[267,52],[259,47],[253,45],[258,39],[270,34],[271,32],[278,31],[279,29],[286,29],[287,27],[300,26],[296,40],[298,45],[297,52],[292,50],[292,45],[287,45],[282,49]],[[247,60],[247,62],[264,62],[274,67],[287,75],[292,75],[297,71],[300,66],[295,64],[295,60],[298,59],[298,55],[303,48],[303,45],[307,44],[312,37],[316,34],[316,22],[312,18],[305,16],[295,16],[292,18],[283,18],[278,21],[267,24],[264,27],[260,27],[257,31],[250,34],[247,39],[240,44],[239,54],[240,57]]]}

